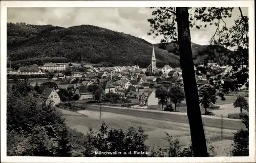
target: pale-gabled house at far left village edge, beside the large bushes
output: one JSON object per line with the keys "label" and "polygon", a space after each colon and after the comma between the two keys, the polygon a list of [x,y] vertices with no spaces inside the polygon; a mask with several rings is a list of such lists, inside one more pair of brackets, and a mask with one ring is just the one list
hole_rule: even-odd
{"label": "pale-gabled house at far left village edge, beside the large bushes", "polygon": [[50,104],[52,102],[51,104],[55,106],[60,103],[59,95],[54,88],[45,87],[42,91],[42,96],[44,96],[46,104]]}

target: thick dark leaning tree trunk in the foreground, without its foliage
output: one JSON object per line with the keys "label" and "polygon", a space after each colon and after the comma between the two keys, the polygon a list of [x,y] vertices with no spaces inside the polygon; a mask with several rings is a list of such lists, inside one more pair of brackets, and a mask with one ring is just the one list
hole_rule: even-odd
{"label": "thick dark leaning tree trunk in the foreground, without its foliage", "polygon": [[187,117],[190,126],[191,143],[194,157],[207,157],[206,140],[202,123],[198,99],[191,38],[188,21],[188,8],[177,7],[178,44],[180,51],[180,65],[184,82],[184,91],[187,104]]}

